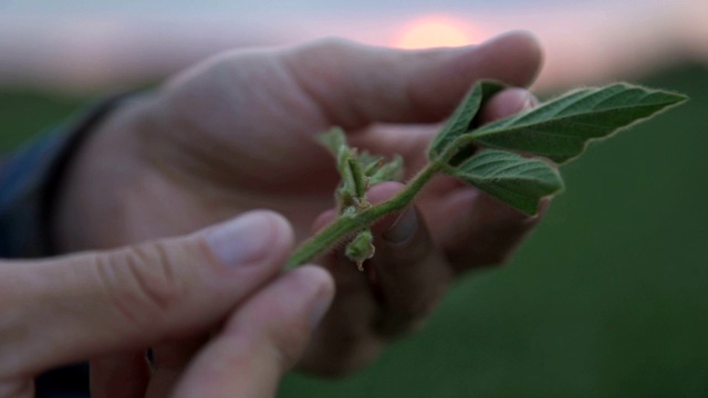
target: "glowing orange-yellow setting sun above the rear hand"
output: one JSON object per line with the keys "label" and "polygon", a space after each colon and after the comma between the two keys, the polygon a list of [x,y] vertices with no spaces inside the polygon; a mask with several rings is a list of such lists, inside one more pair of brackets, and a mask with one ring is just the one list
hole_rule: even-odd
{"label": "glowing orange-yellow setting sun above the rear hand", "polygon": [[462,21],[447,17],[426,17],[405,25],[394,45],[402,49],[458,46],[472,44],[478,38]]}

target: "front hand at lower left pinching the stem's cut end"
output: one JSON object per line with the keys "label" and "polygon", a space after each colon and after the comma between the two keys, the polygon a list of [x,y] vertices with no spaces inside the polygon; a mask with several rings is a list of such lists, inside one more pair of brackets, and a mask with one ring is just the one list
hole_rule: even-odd
{"label": "front hand at lower left pinching the stem's cut end", "polygon": [[274,396],[334,287],[315,266],[280,274],[292,240],[282,217],[251,212],[186,238],[0,262],[0,396],[33,397],[41,371],[115,353],[131,366],[97,359],[92,397]]}

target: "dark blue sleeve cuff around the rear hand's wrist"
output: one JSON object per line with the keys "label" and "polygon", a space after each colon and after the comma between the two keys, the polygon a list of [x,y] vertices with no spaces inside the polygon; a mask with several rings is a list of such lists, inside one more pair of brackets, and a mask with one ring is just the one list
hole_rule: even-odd
{"label": "dark blue sleeve cuff around the rear hand's wrist", "polygon": [[62,171],[83,138],[123,97],[125,94],[100,102],[0,160],[0,258],[55,253],[46,227]]}

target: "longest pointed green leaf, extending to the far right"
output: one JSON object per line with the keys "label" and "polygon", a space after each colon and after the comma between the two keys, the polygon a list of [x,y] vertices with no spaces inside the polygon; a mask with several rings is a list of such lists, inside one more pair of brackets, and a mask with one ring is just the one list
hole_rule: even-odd
{"label": "longest pointed green leaf, extending to the far right", "polygon": [[687,97],[626,83],[584,88],[530,112],[471,132],[457,145],[485,146],[548,157],[559,164],[581,155],[592,139],[607,137]]}

